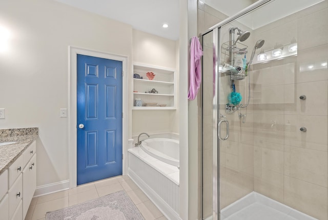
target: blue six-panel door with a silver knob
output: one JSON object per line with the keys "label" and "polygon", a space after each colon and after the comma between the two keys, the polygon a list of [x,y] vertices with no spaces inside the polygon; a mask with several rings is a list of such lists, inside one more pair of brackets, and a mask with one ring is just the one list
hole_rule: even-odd
{"label": "blue six-panel door with a silver knob", "polygon": [[77,54],[77,185],[122,174],[122,62]]}

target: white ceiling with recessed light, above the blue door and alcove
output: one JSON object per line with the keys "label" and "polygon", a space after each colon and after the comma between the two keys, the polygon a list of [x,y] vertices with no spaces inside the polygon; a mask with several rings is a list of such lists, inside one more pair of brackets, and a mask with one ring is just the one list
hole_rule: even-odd
{"label": "white ceiling with recessed light, above the blue door and alcove", "polygon": [[[130,24],[134,29],[176,41],[179,0],[55,0]],[[168,28],[163,28],[166,23]]]}

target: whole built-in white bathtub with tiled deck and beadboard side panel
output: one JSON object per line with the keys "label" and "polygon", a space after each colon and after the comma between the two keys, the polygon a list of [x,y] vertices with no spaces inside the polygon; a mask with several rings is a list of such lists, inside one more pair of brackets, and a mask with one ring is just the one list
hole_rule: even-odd
{"label": "whole built-in white bathtub with tiled deck and beadboard side panel", "polygon": [[179,142],[149,138],[128,150],[128,175],[169,219],[179,218]]}

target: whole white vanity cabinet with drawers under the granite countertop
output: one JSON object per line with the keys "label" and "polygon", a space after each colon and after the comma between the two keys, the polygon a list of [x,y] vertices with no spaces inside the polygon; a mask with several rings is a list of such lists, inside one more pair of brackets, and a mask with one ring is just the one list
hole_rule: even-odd
{"label": "whole white vanity cabinet with drawers under the granite countertop", "polygon": [[0,175],[0,219],[23,220],[36,188],[35,141]]}

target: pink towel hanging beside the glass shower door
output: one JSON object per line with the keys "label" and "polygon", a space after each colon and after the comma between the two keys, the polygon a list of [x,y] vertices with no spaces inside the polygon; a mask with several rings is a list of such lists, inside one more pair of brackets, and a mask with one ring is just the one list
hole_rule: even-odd
{"label": "pink towel hanging beside the glass shower door", "polygon": [[200,57],[203,55],[201,45],[196,36],[191,38],[190,44],[190,87],[188,99],[194,100],[200,87],[201,69]]}

